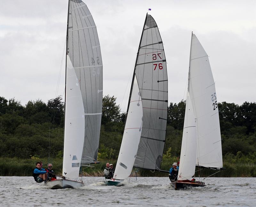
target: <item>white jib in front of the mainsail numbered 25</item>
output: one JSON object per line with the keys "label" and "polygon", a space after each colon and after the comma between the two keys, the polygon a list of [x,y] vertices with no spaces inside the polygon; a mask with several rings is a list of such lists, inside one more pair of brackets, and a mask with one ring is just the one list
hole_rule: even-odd
{"label": "white jib in front of the mainsail numbered 25", "polygon": [[178,180],[189,180],[196,168],[196,123],[189,92],[187,94],[186,111],[180,151],[180,168]]}

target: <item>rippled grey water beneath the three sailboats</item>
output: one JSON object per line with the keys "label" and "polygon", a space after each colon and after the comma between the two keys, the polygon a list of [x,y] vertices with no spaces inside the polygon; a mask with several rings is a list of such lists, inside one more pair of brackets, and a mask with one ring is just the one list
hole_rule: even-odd
{"label": "rippled grey water beneath the three sailboats", "polygon": [[33,177],[0,176],[0,206],[256,206],[256,178],[207,178],[206,187],[186,190],[167,177],[131,178],[122,187],[83,180],[84,187],[52,190]]}

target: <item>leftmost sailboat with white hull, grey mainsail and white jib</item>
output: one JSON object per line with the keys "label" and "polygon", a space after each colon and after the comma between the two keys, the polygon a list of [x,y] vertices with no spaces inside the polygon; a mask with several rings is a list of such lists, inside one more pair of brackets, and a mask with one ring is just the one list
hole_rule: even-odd
{"label": "leftmost sailboat with white hull, grey mainsail and white jib", "polygon": [[82,0],[68,1],[65,130],[62,179],[51,188],[83,186],[81,165],[97,163],[102,114],[102,59],[92,14]]}

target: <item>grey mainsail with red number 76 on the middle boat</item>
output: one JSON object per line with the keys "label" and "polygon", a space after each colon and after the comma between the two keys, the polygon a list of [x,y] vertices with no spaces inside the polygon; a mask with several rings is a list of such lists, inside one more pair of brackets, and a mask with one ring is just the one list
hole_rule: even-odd
{"label": "grey mainsail with red number 76 on the middle boat", "polygon": [[155,20],[148,14],[135,75],[143,106],[143,124],[134,167],[160,169],[167,123],[168,81],[163,42]]}

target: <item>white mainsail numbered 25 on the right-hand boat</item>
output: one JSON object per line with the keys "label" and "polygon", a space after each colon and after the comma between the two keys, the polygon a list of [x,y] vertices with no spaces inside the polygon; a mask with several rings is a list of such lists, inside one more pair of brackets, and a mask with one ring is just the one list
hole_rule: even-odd
{"label": "white mainsail numbered 25 on the right-hand boat", "polygon": [[222,167],[219,108],[212,70],[201,43],[191,38],[189,94],[196,119],[196,165]]}

